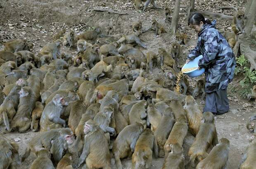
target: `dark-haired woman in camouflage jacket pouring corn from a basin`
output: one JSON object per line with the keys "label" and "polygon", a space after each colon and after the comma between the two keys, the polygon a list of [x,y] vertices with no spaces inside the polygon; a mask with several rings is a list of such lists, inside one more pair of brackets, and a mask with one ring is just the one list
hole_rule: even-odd
{"label": "dark-haired woman in camouflage jacket pouring corn from a basin", "polygon": [[223,114],[229,110],[227,88],[234,77],[235,55],[228,41],[212,23],[199,13],[190,16],[188,25],[198,32],[198,42],[187,56],[187,62],[202,55],[198,61],[199,69],[205,69],[206,101],[204,111]]}

